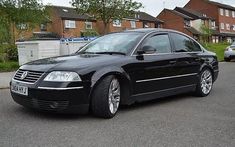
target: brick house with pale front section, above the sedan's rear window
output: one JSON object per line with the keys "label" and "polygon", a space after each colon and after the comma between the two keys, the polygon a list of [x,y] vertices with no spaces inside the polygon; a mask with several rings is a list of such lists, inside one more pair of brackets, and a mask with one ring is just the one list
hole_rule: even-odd
{"label": "brick house with pale front section, above the sedan's rear window", "polygon": [[192,9],[176,7],[174,10],[164,9],[157,18],[164,21],[163,28],[183,32],[196,40],[204,33],[202,25],[210,28],[216,35],[213,18]]}

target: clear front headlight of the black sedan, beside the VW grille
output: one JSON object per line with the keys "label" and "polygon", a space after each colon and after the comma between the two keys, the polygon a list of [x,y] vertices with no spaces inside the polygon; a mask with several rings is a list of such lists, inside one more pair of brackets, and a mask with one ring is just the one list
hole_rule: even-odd
{"label": "clear front headlight of the black sedan, beside the VW grille", "polygon": [[50,82],[74,82],[82,81],[80,76],[76,72],[67,71],[53,71],[49,73],[44,81]]}

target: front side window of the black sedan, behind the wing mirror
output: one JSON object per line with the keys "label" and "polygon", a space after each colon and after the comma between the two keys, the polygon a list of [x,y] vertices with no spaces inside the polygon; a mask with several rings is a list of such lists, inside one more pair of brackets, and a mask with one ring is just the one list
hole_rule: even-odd
{"label": "front side window of the black sedan, behind the wing mirror", "polygon": [[156,49],[157,53],[170,53],[171,44],[167,34],[155,35],[147,38],[142,46],[150,46]]}

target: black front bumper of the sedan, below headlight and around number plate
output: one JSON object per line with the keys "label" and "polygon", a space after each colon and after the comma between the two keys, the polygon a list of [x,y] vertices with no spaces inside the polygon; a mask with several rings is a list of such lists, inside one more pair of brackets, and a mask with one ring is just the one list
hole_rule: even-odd
{"label": "black front bumper of the sedan, below headlight and around number plate", "polygon": [[85,87],[43,88],[23,85],[28,87],[27,96],[12,91],[11,95],[16,103],[24,107],[56,113],[84,114],[89,111],[90,100]]}

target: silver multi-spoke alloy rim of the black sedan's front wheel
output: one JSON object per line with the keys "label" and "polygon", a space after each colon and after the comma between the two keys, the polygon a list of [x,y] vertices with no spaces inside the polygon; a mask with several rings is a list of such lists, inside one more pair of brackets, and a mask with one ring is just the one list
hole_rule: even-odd
{"label": "silver multi-spoke alloy rim of the black sedan's front wheel", "polygon": [[116,78],[114,78],[109,86],[109,110],[112,114],[115,114],[118,110],[120,103],[120,84]]}

